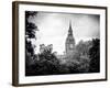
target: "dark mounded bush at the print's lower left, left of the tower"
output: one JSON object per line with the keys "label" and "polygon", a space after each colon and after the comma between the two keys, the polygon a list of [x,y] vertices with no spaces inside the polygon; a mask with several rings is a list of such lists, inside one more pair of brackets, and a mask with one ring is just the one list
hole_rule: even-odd
{"label": "dark mounded bush at the print's lower left, left of the tower", "polygon": [[59,61],[52,53],[52,50],[44,50],[38,54],[38,61],[31,67],[31,72],[26,75],[55,75],[59,72]]}

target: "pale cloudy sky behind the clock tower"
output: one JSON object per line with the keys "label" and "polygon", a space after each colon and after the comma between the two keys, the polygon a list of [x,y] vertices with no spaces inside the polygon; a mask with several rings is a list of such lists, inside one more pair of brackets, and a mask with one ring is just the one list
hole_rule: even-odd
{"label": "pale cloudy sky behind the clock tower", "polygon": [[69,22],[72,22],[76,44],[81,40],[100,37],[100,16],[96,14],[37,12],[34,18],[30,16],[29,21],[35,23],[38,29],[37,40],[33,41],[36,53],[40,52],[40,44],[53,44],[53,52],[63,54]]}

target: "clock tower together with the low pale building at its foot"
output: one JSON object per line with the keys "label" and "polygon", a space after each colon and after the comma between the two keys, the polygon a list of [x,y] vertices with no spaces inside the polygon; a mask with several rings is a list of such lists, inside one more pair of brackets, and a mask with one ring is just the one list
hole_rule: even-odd
{"label": "clock tower together with the low pale building at its foot", "polygon": [[67,57],[72,57],[75,52],[75,38],[73,35],[73,29],[72,29],[72,22],[69,22],[69,29],[68,34],[65,41],[65,52],[63,55],[56,55],[57,58],[59,58],[61,64],[66,63],[69,59],[66,59]]}

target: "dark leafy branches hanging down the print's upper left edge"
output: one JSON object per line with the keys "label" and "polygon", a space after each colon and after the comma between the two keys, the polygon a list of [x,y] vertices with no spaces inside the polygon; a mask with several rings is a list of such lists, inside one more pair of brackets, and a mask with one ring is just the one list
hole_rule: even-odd
{"label": "dark leafy branches hanging down the print's upper left edge", "polygon": [[31,38],[35,37],[35,31],[37,31],[37,26],[29,21],[30,16],[36,15],[37,12],[35,11],[25,11],[25,50],[31,56],[34,55],[34,48],[31,42]]}

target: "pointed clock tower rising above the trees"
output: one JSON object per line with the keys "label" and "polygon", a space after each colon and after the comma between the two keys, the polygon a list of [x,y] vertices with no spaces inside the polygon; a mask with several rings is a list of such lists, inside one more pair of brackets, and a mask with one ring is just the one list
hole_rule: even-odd
{"label": "pointed clock tower rising above the trees", "polygon": [[68,35],[65,43],[66,55],[70,55],[75,51],[75,38],[73,36],[72,22],[69,22]]}

